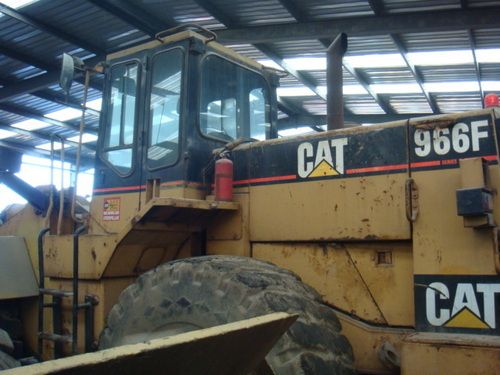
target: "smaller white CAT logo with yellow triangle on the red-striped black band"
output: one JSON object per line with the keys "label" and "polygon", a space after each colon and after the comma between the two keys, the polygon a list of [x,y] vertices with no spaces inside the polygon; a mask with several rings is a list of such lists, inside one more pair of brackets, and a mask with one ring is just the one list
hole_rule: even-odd
{"label": "smaller white CAT logo with yellow triangle on the red-striped black band", "polygon": [[347,138],[303,142],[297,148],[297,173],[301,178],[337,176],[344,173]]}

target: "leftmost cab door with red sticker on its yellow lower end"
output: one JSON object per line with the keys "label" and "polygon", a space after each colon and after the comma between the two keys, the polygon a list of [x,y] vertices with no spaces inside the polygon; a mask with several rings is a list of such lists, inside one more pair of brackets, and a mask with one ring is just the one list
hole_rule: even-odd
{"label": "leftmost cab door with red sticker on its yellow lower end", "polygon": [[140,207],[144,52],[113,60],[106,72],[92,215],[119,230]]}

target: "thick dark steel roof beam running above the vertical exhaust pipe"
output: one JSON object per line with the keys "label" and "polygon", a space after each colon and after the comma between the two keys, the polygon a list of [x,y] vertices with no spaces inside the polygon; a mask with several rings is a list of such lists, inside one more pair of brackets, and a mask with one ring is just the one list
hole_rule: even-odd
{"label": "thick dark steel roof beam running above the vertical exhaust pipe", "polygon": [[373,36],[497,28],[499,19],[500,7],[453,9],[230,28],[217,31],[217,35],[224,43],[272,43],[332,38],[341,32],[349,36]]}

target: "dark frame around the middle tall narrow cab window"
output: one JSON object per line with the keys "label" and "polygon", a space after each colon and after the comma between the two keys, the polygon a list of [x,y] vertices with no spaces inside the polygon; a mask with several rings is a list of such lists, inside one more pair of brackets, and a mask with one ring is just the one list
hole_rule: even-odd
{"label": "dark frame around the middle tall narrow cab window", "polygon": [[[177,157],[174,162],[168,163],[168,164],[163,164],[158,167],[150,167],[149,162],[148,162],[148,150],[150,145],[150,138],[151,138],[151,131],[152,131],[152,119],[151,119],[151,90],[153,87],[153,62],[156,56],[161,55],[162,53],[167,53],[169,51],[175,50],[175,49],[180,49],[182,52],[182,65],[181,65],[181,92],[180,92],[180,103],[179,103],[179,138],[178,138],[178,150],[177,150]],[[185,103],[186,103],[186,90],[187,90],[187,59],[188,59],[188,53],[186,51],[186,48],[183,45],[176,45],[172,46],[170,48],[166,49],[160,49],[157,51],[152,51],[151,55],[148,56],[148,77],[147,77],[147,84],[146,84],[146,93],[147,96],[145,97],[144,100],[144,116],[145,116],[145,141],[143,141],[143,160],[144,160],[144,165],[146,169],[149,172],[154,172],[158,171],[164,168],[168,167],[173,167],[179,163],[181,160],[181,154],[182,154],[182,145],[183,145],[183,140],[184,140],[184,127],[185,127]],[[146,117],[147,116],[147,117]]]}

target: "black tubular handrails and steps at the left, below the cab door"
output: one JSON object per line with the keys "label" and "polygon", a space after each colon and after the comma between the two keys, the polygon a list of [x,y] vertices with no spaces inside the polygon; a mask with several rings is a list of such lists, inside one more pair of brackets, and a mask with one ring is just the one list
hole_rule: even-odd
{"label": "black tubular handrails and steps at the left, below the cab door", "polygon": [[[93,351],[94,348],[94,307],[97,305],[97,298],[93,295],[86,295],[84,303],[78,303],[78,239],[80,234],[86,229],[85,226],[78,228],[73,233],[73,275],[72,290],[45,288],[45,268],[43,238],[50,232],[50,228],[45,228],[38,234],[38,272],[39,272],[39,297],[38,297],[38,355],[43,355],[43,342],[54,342],[54,358],[63,357],[64,345],[71,345],[71,354],[77,354],[78,345],[78,313],[85,311],[85,352]],[[45,297],[51,296],[52,301],[45,302]],[[71,334],[63,333],[63,300],[71,300]],[[44,330],[45,310],[52,310],[52,332]]]}

